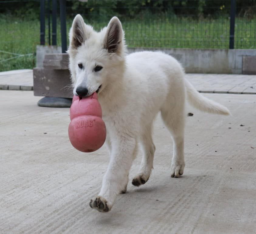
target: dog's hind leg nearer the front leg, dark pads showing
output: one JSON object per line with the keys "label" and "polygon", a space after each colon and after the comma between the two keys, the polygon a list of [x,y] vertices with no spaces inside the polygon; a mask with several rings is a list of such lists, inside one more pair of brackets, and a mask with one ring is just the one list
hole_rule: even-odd
{"label": "dog's hind leg nearer the front leg, dark pads showing", "polygon": [[148,181],[151,170],[153,168],[155,145],[152,140],[152,123],[146,127],[145,132],[142,134],[141,143],[143,149],[143,157],[139,173],[132,180],[132,184],[134,186],[145,184]]}

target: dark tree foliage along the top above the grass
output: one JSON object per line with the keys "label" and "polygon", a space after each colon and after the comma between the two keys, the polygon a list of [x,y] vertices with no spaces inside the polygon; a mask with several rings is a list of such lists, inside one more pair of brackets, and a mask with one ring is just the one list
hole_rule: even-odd
{"label": "dark tree foliage along the top above the grass", "polygon": [[[46,10],[47,2],[45,0]],[[0,14],[8,13],[20,18],[38,18],[39,0],[0,0]],[[57,1],[58,2],[58,1]],[[129,19],[152,17],[152,15],[189,16],[193,18],[216,17],[230,14],[230,0],[67,0],[67,16],[77,13],[88,20],[109,20],[113,15]],[[256,0],[236,0],[237,14],[253,17]]]}

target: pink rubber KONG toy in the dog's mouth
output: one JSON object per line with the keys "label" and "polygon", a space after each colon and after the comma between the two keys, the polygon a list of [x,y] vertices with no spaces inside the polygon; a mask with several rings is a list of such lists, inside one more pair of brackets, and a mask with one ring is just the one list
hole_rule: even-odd
{"label": "pink rubber KONG toy in the dog's mouth", "polygon": [[74,95],[68,127],[73,147],[82,152],[93,152],[101,148],[106,140],[106,126],[101,117],[97,93],[83,98]]}

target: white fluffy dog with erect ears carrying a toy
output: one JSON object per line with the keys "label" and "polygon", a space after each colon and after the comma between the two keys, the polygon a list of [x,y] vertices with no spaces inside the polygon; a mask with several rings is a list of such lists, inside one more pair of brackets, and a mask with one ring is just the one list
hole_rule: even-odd
{"label": "white fluffy dog with erect ears carrying a toy", "polygon": [[199,110],[230,114],[226,107],[198,93],[172,56],[162,52],[127,55],[117,17],[96,32],[77,15],[70,29],[68,54],[73,93],[89,96],[97,91],[107,126],[110,162],[100,193],[90,201],[90,207],[98,211],[110,211],[116,196],[126,192],[138,143],[143,158],[132,184],[140,186],[148,181],[155,153],[152,124],[159,111],[173,140],[171,177],[181,176],[185,166],[185,99]]}

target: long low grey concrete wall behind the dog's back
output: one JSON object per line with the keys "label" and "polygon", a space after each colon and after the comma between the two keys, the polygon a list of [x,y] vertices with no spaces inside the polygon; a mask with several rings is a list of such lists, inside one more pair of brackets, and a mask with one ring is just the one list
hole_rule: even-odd
{"label": "long low grey concrete wall behind the dog's back", "polygon": [[129,53],[145,50],[172,55],[187,73],[242,74],[243,57],[256,56],[256,50],[128,48]]}

